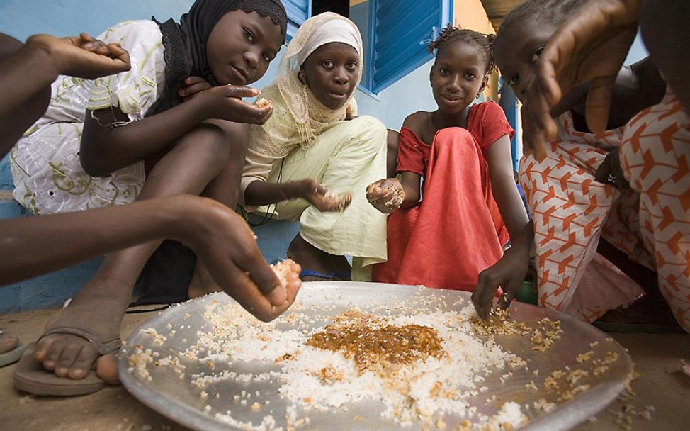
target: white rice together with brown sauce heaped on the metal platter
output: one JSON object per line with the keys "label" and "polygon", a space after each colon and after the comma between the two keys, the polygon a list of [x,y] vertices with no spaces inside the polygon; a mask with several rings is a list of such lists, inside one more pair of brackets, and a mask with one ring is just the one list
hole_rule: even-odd
{"label": "white rice together with brown sauce heaped on the metal platter", "polygon": [[[381,416],[403,426],[415,420],[445,425],[439,418],[446,414],[470,418],[473,425],[486,430],[507,430],[526,420],[516,403],[505,403],[496,415],[487,417],[477,414],[466,401],[487,390],[477,385],[487,374],[500,371],[507,377],[511,368],[526,365],[491,337],[480,340],[477,328],[485,333],[531,331],[519,323],[512,328],[494,323],[492,329],[476,319],[472,306],[433,313],[405,308],[402,315],[353,308],[324,321],[316,330],[307,329],[314,318],[307,318],[300,306],[271,323],[256,320],[234,303],[212,303],[204,317],[212,328],[199,331],[196,345],[183,356],[203,364],[272,364],[279,371],[253,375],[210,370],[193,376],[193,384],[203,391],[228,379],[242,383],[275,379],[289,401],[288,429],[305,420],[298,418],[298,408],[305,412],[346,410],[362,400],[380,401],[384,405]],[[286,324],[291,328],[285,328]],[[339,335],[346,334],[351,339],[339,340]],[[327,340],[332,342],[330,348]],[[407,350],[390,352],[395,342],[407,343]],[[252,406],[261,403],[259,399]],[[269,416],[256,427],[233,420],[229,411],[215,417],[242,429],[275,425]]]}

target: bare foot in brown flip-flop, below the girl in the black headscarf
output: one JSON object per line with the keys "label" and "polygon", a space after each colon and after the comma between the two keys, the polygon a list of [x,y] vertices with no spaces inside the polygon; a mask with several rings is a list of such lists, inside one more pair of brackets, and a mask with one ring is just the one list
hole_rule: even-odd
{"label": "bare foot in brown flip-flop, below the girl in the black headscarf", "polygon": [[[120,335],[131,291],[132,286],[91,279],[45,329],[77,328],[91,332],[103,342],[113,340]],[[108,384],[120,384],[116,354],[117,351],[99,357],[96,347],[84,338],[55,334],[36,343],[34,359],[57,376],[69,379],[84,379],[96,364],[98,377]]]}

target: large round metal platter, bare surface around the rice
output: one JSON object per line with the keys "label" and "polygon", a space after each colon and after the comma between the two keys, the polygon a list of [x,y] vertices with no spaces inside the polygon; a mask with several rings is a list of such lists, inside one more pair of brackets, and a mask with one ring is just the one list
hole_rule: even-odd
{"label": "large round metal platter, bare surface around the rice", "polygon": [[[304,304],[302,313],[312,313],[312,317],[320,319],[338,315],[352,306],[377,308],[387,306],[399,301],[418,301],[427,296],[443,296],[441,308],[448,310],[463,308],[470,304],[470,293],[464,291],[445,291],[439,289],[420,289],[415,286],[399,286],[392,284],[357,283],[357,282],[313,282],[305,283],[300,290],[298,302]],[[464,304],[458,305],[458,299],[464,298]],[[189,345],[196,340],[199,330],[208,330],[210,323],[203,317],[205,308],[212,303],[228,303],[232,298],[224,293],[215,293],[193,301],[183,303],[181,306],[173,306],[159,315],[147,320],[128,337],[125,348],[120,352],[118,369],[120,379],[125,387],[139,401],[150,408],[165,415],[176,422],[194,430],[228,430],[237,429],[230,427],[226,422],[215,418],[216,412],[224,412],[232,408],[233,418],[244,422],[259,424],[266,411],[254,412],[249,405],[239,407],[233,397],[242,391],[260,391],[262,399],[271,400],[272,415],[276,418],[276,427],[283,427],[286,401],[278,393],[279,384],[271,381],[249,382],[240,384],[237,381],[223,381],[213,384],[208,390],[208,398],[200,398],[200,391],[191,384],[191,374],[207,373],[208,368],[204,364],[192,361],[181,362],[186,366],[183,378],[169,367],[156,367],[148,365],[150,376],[141,376],[132,371],[129,356],[133,346],[141,346],[156,352],[157,357],[180,356]],[[428,304],[426,305],[428,306]],[[324,313],[324,307],[327,312]],[[425,307],[422,305],[420,307]],[[313,308],[320,309],[318,313],[310,312]],[[431,310],[429,310],[431,311]],[[529,417],[521,430],[567,430],[574,427],[587,418],[595,415],[606,407],[628,384],[632,374],[632,362],[621,345],[611,340],[604,332],[597,330],[592,325],[582,323],[568,315],[538,308],[524,303],[514,303],[509,309],[511,317],[528,325],[536,324],[543,318],[560,320],[560,328],[563,330],[559,340],[545,352],[535,352],[533,343],[529,337],[516,335],[494,335],[494,340],[502,348],[507,349],[528,363],[529,370],[514,369],[513,375],[505,381],[499,381],[500,376],[493,373],[482,384],[488,387],[488,391],[480,393],[470,399],[470,405],[477,406],[480,413],[494,415],[500,405],[507,401],[515,401],[520,405],[532,405],[540,398],[553,401],[557,404],[554,410],[546,413],[544,410],[523,409]],[[290,313],[290,310],[287,311]],[[323,323],[312,323],[311,328],[319,328]],[[309,325],[307,325],[309,327]],[[164,343],[154,342],[149,328],[154,328],[158,334],[164,335]],[[174,332],[171,328],[174,328]],[[160,341],[160,340],[159,340]],[[162,344],[162,345],[161,345]],[[587,362],[577,361],[579,354],[594,351]],[[592,369],[594,364],[601,364],[611,355],[617,359],[609,363],[608,371],[595,376]],[[582,359],[582,358],[580,358]],[[610,361],[609,361],[610,362]],[[552,371],[563,369],[587,369],[589,376],[583,377],[580,383],[588,384],[589,389],[577,394],[568,401],[557,401],[555,395],[548,393],[545,388],[538,390],[528,389],[526,385],[530,381],[543,381]],[[265,364],[215,364],[215,372],[229,369],[237,372],[265,372]],[[277,369],[277,366],[276,366]],[[539,378],[534,375],[534,370],[539,370]],[[216,394],[219,396],[216,397]],[[495,396],[495,398],[492,398]],[[487,403],[492,398],[494,401]],[[210,406],[210,407],[209,407]],[[281,410],[282,409],[282,410]],[[356,403],[349,406],[349,411],[335,411],[329,413],[309,413],[310,430],[392,430],[392,429],[420,429],[421,423],[412,427],[400,427],[399,424],[381,418],[381,405],[375,402]],[[357,416],[355,418],[355,415]],[[448,430],[452,430],[460,420],[453,422],[453,418],[445,417]],[[305,429],[302,427],[302,429]]]}

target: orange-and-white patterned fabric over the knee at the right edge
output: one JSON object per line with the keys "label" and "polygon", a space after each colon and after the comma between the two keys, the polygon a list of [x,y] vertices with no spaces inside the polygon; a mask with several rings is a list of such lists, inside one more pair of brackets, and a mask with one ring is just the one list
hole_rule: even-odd
{"label": "orange-and-white patterned fabric over the knee at the right edge", "polygon": [[628,123],[620,155],[659,289],[690,332],[690,116],[670,91]]}

